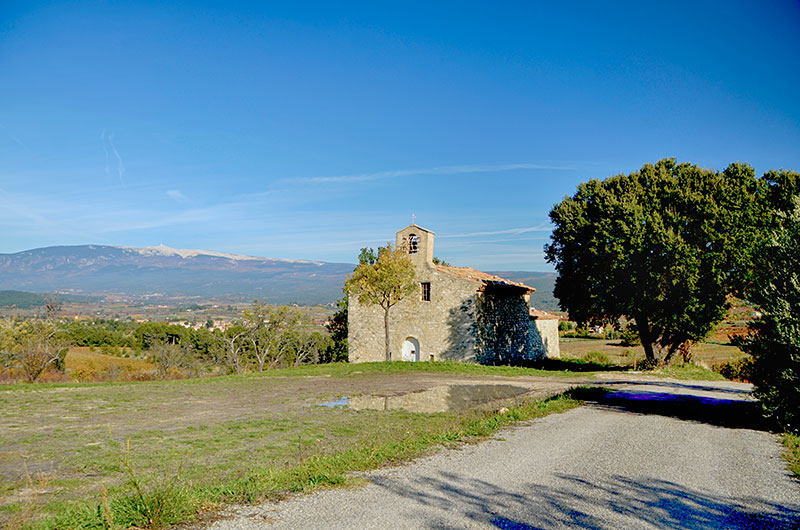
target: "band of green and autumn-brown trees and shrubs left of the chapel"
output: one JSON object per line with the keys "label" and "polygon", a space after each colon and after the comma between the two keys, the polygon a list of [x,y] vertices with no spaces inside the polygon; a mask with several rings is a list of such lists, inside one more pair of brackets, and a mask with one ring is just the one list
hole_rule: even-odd
{"label": "band of green and autumn-brown trees and shrubs left of the chapel", "polygon": [[[71,347],[99,347],[103,353],[145,360],[153,371],[139,377],[161,379],[347,359],[346,301],[324,329],[299,309],[258,300],[224,331],[161,322],[64,322],[58,312],[51,301],[41,318],[0,320],[4,379],[36,382],[48,371],[64,374]],[[81,379],[86,374],[73,375]]]}

